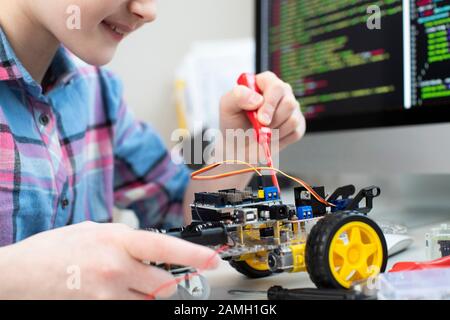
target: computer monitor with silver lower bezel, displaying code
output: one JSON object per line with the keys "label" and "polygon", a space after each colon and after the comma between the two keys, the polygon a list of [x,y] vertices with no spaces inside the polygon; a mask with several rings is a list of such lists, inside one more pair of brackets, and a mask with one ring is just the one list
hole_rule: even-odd
{"label": "computer monitor with silver lower bezel, displaying code", "polygon": [[257,70],[308,134],[290,170],[450,172],[450,0],[257,1]]}

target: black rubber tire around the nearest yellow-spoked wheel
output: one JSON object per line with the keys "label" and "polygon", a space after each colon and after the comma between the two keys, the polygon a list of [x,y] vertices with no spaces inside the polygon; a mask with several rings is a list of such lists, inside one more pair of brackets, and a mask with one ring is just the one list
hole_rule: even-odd
{"label": "black rubber tire around the nearest yellow-spoked wheel", "polygon": [[329,265],[329,249],[336,232],[349,222],[359,221],[369,225],[379,236],[383,248],[383,262],[380,272],[387,264],[387,245],[380,227],[370,218],[358,213],[337,213],[322,218],[312,228],[306,240],[306,270],[312,282],[318,288],[342,289],[343,286],[334,278]]}

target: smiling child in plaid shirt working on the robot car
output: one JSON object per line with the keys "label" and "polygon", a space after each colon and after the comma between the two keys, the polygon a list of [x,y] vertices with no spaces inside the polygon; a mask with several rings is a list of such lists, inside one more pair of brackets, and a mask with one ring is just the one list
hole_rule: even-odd
{"label": "smiling child in plaid shirt working on the robot car", "polygon": [[[80,29],[67,27],[69,6]],[[173,278],[143,260],[217,266],[207,248],[111,223],[116,205],[141,227],[179,226],[196,191],[250,178],[191,182],[99,67],[154,19],[153,0],[0,0],[0,298],[144,299]],[[258,110],[281,148],[296,142],[305,122],[291,88],[272,73],[257,80],[263,96],[223,96],[221,128],[249,128],[244,111]]]}

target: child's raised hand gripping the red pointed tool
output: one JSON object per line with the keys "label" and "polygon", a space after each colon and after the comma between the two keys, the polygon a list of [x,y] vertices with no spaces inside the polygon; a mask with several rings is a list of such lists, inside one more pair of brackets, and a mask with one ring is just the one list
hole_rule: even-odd
{"label": "child's raised hand gripping the red pointed tool", "polygon": [[300,140],[305,134],[305,118],[289,84],[272,72],[256,76],[263,96],[244,86],[236,86],[225,94],[220,106],[221,129],[249,129],[244,111],[258,110],[262,125],[279,129],[280,149]]}

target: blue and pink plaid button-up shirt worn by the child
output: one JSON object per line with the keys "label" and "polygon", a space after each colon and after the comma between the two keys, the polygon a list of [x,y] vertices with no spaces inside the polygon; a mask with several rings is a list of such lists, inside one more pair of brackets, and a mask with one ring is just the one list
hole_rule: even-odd
{"label": "blue and pink plaid button-up shirt worn by the child", "polygon": [[63,47],[44,92],[0,29],[0,246],[133,210],[141,227],[179,226],[189,181],[160,137],[136,121],[110,72]]}

